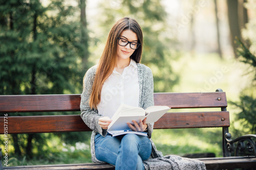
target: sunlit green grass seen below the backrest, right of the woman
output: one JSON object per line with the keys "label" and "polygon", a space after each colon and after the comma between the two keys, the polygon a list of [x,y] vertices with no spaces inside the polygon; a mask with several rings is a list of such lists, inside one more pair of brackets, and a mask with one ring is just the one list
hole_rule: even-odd
{"label": "sunlit green grass seen below the backrest, right of the woman", "polygon": [[155,130],[152,139],[163,155],[215,153],[219,157],[221,136],[219,129],[168,129]]}

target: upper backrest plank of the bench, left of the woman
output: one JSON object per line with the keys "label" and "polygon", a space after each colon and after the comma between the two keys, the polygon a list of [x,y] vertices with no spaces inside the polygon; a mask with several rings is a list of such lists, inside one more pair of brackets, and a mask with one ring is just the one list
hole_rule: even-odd
{"label": "upper backrest plank of the bench, left of the woman", "polygon": [[0,95],[0,112],[80,111],[80,94]]}

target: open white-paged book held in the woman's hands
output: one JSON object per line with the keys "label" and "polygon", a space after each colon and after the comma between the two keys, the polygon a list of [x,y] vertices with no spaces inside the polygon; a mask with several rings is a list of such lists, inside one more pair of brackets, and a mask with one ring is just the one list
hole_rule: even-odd
{"label": "open white-paged book held in the woman's hands", "polygon": [[139,123],[146,117],[146,124],[157,122],[157,120],[164,115],[170,108],[168,106],[151,106],[145,110],[140,107],[132,107],[129,105],[121,104],[115,114],[112,116],[112,122],[109,125],[108,132],[114,134],[113,131],[126,131],[131,132],[127,123],[133,124],[132,120]]}

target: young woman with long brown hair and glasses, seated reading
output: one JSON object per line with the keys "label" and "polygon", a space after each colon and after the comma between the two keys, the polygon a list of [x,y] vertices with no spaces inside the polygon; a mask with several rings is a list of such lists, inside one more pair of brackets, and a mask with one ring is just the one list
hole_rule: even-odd
{"label": "young woman with long brown hair and glasses, seated reading", "polygon": [[147,136],[112,137],[107,131],[110,117],[120,104],[143,109],[154,105],[152,71],[139,63],[142,43],[142,30],[136,20],[118,20],[98,65],[91,67],[83,79],[80,109],[81,118],[93,131],[92,160],[108,162],[116,169],[144,169],[142,161],[162,156],[151,139],[153,124],[145,124],[145,119],[127,125],[133,131],[146,131]]}

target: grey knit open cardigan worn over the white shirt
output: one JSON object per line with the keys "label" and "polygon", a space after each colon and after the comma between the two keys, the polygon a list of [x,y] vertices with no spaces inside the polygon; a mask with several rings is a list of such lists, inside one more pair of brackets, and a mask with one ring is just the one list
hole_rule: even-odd
{"label": "grey knit open cardigan worn over the white shirt", "polygon": [[[147,107],[154,106],[154,84],[153,84],[153,75],[152,71],[149,67],[137,63],[138,66],[138,77],[139,77],[139,107],[146,109]],[[94,138],[96,133],[98,132],[102,136],[106,136],[108,133],[106,130],[102,129],[99,124],[99,118],[102,117],[98,113],[97,109],[91,109],[89,106],[89,97],[91,94],[91,89],[93,85],[93,81],[95,78],[97,65],[91,67],[84,78],[84,87],[83,92],[81,94],[81,118],[83,122],[93,131],[91,136],[91,154],[93,162],[101,162],[95,156],[95,148],[94,148]],[[163,157],[160,151],[157,151],[154,142],[151,139],[151,135],[153,132],[154,123],[147,125],[148,138],[150,138],[152,142],[152,158]]]}

